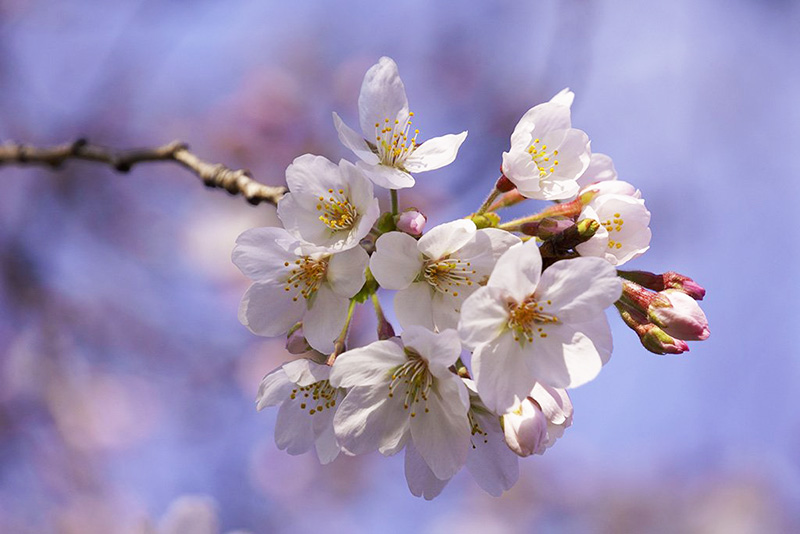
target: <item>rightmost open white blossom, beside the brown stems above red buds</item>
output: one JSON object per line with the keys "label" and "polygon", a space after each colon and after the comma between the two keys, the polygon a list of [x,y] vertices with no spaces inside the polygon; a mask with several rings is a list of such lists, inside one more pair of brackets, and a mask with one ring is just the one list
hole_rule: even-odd
{"label": "rightmost open white blossom, beside the brown stems above red buds", "polygon": [[600,228],[588,241],[575,247],[581,256],[605,258],[611,265],[619,266],[650,248],[650,212],[644,200],[628,195],[598,194],[583,207],[579,220],[583,219],[596,220]]}

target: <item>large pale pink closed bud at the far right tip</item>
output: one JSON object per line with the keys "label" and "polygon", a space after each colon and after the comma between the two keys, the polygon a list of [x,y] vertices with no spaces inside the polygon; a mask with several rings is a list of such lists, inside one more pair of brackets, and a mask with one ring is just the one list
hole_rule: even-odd
{"label": "large pale pink closed bud at the far right tip", "polygon": [[689,341],[703,340],[711,334],[706,314],[692,297],[677,289],[665,289],[659,295],[666,297],[670,305],[654,302],[648,308],[647,316],[664,332]]}

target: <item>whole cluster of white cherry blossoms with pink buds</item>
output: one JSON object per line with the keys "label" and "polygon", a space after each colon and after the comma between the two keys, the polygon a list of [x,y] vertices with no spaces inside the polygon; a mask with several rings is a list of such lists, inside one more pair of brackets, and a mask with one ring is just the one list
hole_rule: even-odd
{"label": "whole cluster of white cherry blossoms with pink buds", "polygon": [[[394,61],[369,69],[362,133],[333,114],[359,161],[297,158],[278,204],[283,228],[248,230],[233,251],[253,280],[241,322],[286,335],[287,349],[304,355],[258,392],[259,409],[280,405],[278,447],[314,447],[322,463],[405,450],[414,495],[432,499],[463,467],[500,495],[518,478],[518,457],[542,454],[571,425],[567,390],[611,357],[606,308],[615,305],[651,352],[708,337],[698,284],[617,270],[649,248],[650,212],[572,127],[573,98],[565,89],[525,113],[483,205],[424,232],[426,217],[401,212],[398,190],[451,163],[467,132],[422,140]],[[390,190],[390,212],[380,213],[376,185]],[[558,202],[501,223],[499,210],[526,199]],[[381,289],[396,292],[399,336]],[[349,347],[353,313],[367,300],[377,339]]]}

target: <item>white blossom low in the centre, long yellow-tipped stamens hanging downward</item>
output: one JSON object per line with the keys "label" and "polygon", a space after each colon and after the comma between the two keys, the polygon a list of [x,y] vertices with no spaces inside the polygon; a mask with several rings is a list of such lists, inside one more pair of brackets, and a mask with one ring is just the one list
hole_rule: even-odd
{"label": "white blossom low in the centre, long yellow-tipped stamens hanging downward", "polygon": [[453,330],[434,334],[409,327],[397,340],[376,341],[341,354],[331,371],[350,388],[334,417],[342,449],[361,454],[400,451],[408,440],[436,478],[447,480],[467,459],[469,400],[449,370],[461,353]]}

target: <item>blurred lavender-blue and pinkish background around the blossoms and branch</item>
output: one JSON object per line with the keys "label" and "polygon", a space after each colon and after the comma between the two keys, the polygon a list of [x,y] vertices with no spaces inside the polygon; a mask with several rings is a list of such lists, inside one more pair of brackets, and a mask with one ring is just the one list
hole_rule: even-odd
{"label": "blurred lavender-blue and pinkish background around the blossoms and branch", "polygon": [[392,56],[422,139],[469,130],[401,194],[429,227],[478,206],[519,117],[569,86],[652,212],[628,265],[705,286],[712,332],[658,357],[610,315],[558,445],[502,498],[462,472],[428,503],[402,455],[321,467],[255,411],[290,356],[237,321],[230,252],[274,208],[176,165],[3,167],[0,532],[800,531],[798,28],[792,0],[0,0],[0,140],[181,139],[268,184],[306,152],[353,158],[331,111],[355,126]]}

